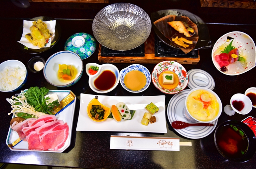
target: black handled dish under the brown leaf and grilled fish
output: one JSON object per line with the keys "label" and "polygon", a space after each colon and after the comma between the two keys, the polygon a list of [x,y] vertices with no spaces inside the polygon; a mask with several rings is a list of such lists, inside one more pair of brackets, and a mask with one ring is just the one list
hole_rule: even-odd
{"label": "black handled dish under the brown leaf and grilled fish", "polygon": [[151,22],[152,22],[152,27],[158,36],[160,40],[162,40],[166,45],[174,48],[181,50],[179,47],[177,47],[174,42],[170,41],[167,37],[165,37],[159,30],[158,28],[153,24],[155,21],[157,21],[160,18],[163,18],[164,16],[167,15],[176,15],[176,16],[186,16],[189,17],[189,19],[196,24],[198,28],[198,36],[199,39],[192,50],[198,50],[198,49],[207,49],[211,48],[214,45],[214,41],[212,41],[209,37],[209,30],[207,25],[203,22],[201,18],[198,16],[186,11],[186,10],[181,10],[181,9],[168,9],[168,10],[161,10],[157,11],[154,13],[151,13]]}

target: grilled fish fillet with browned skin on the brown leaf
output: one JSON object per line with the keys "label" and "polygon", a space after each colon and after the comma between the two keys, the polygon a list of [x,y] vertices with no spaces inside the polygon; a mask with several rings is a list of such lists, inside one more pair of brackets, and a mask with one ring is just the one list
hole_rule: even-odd
{"label": "grilled fish fillet with browned skin on the brown leaf", "polygon": [[172,22],[168,22],[168,24],[171,27],[173,27],[175,30],[177,30],[179,33],[183,33],[187,37],[191,37],[194,34],[196,34],[194,29],[191,28],[190,25],[188,25],[183,21],[172,21]]}

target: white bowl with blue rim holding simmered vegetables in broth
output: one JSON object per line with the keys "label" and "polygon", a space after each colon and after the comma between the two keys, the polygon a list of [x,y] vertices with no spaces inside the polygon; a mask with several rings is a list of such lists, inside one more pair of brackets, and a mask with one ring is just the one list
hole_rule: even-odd
{"label": "white bowl with blue rim holding simmered vegetables in broth", "polygon": [[[77,70],[75,78],[71,81],[60,81],[58,77],[59,64],[72,65]],[[53,54],[45,63],[44,77],[52,85],[57,87],[68,87],[74,85],[83,74],[82,59],[70,51],[60,51]]]}

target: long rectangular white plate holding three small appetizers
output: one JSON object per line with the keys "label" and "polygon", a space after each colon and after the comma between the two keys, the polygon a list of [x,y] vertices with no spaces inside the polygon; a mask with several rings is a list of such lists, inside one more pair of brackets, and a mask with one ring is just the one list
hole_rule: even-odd
{"label": "long rectangular white plate holding three small appetizers", "polygon": [[[165,96],[103,96],[97,95],[98,101],[111,108],[119,102],[124,102],[130,110],[135,110],[135,114],[131,120],[122,119],[117,122],[113,118],[107,118],[102,122],[95,122],[87,115],[87,105],[96,95],[81,93],[80,110],[76,131],[110,131],[110,132],[152,132],[167,133],[165,119]],[[147,104],[153,102],[159,111],[153,116],[156,122],[148,126],[141,124],[141,119],[145,112]]]}

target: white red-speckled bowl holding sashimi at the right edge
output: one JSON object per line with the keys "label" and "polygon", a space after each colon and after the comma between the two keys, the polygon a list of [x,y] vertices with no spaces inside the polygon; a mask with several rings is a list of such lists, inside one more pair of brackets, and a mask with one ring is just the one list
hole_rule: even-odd
{"label": "white red-speckled bowl holding sashimi at the right edge", "polygon": [[[234,39],[232,42],[232,46],[234,46],[235,48],[238,48],[239,55],[246,59],[246,62],[247,62],[247,65],[245,66],[246,69],[241,67],[240,62],[236,61],[226,66],[228,71],[222,72],[220,70],[219,64],[215,61],[215,55],[219,55],[220,51],[223,50],[222,48],[220,48],[223,44],[225,44],[224,47],[226,47],[226,45],[228,45],[232,40],[231,39],[229,40],[229,42],[227,42],[227,37],[231,37]],[[246,33],[233,31],[233,32],[224,34],[217,40],[217,42],[214,44],[212,48],[211,58],[214,66],[221,73],[230,75],[230,76],[235,76],[235,75],[240,75],[242,73],[245,73],[255,67],[255,62],[256,62],[255,53],[256,53],[256,47],[253,39]]]}

